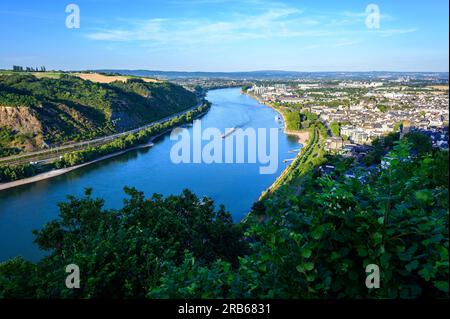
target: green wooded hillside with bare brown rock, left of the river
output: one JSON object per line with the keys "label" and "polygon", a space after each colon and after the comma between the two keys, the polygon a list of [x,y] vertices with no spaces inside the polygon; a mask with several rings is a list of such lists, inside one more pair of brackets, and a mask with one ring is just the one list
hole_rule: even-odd
{"label": "green wooded hillside with bare brown rock, left of the river", "polygon": [[0,75],[0,156],[132,129],[196,104],[165,81]]}

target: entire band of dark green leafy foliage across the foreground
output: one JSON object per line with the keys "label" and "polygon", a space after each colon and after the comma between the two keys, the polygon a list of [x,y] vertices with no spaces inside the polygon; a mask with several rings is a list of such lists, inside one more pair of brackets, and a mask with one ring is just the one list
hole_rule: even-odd
{"label": "entire band of dark green leafy foliage across the foreground", "polygon": [[[281,186],[245,223],[189,191],[145,199],[134,189],[119,210],[90,191],[59,205],[36,232],[51,254],[0,265],[4,298],[448,298],[448,152],[411,152],[346,177],[311,170],[300,194]],[[67,289],[65,267],[80,267]],[[381,288],[365,286],[377,264]]]}

